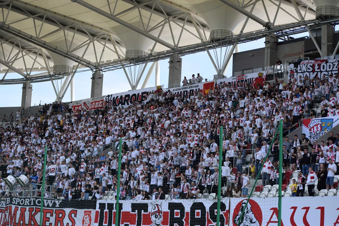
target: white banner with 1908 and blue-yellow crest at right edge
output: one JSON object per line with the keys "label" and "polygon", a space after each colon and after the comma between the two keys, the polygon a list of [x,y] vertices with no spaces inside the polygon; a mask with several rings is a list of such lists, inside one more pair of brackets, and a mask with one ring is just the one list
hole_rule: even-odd
{"label": "white banner with 1908 and blue-yellow crest at right edge", "polygon": [[330,131],[333,127],[339,124],[339,116],[315,118],[315,119],[303,119],[302,120],[302,133],[306,134],[306,137],[311,142],[317,140],[320,136]]}

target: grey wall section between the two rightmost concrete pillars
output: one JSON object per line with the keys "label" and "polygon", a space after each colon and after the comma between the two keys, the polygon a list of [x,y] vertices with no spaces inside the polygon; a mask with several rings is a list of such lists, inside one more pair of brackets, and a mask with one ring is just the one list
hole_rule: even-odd
{"label": "grey wall section between the two rightmost concrete pillars", "polygon": [[277,57],[284,64],[285,61],[292,61],[304,57],[304,37],[292,39],[284,42],[278,42]]}

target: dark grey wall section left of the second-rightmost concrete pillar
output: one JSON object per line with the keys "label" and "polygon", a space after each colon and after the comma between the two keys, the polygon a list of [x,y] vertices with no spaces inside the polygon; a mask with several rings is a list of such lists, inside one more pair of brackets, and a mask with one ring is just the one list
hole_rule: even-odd
{"label": "dark grey wall section left of the second-rightmost concrete pillar", "polygon": [[265,48],[233,53],[234,72],[264,67]]}

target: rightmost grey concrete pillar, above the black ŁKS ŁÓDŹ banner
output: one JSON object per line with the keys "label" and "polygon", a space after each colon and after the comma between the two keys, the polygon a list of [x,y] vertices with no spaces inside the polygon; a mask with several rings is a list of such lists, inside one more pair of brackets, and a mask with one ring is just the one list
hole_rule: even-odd
{"label": "rightmost grey concrete pillar, above the black \u0141KS \u0141\u00d3D\u0179 banner", "polygon": [[321,26],[321,56],[326,57],[332,55],[334,51],[334,27],[328,24]]}

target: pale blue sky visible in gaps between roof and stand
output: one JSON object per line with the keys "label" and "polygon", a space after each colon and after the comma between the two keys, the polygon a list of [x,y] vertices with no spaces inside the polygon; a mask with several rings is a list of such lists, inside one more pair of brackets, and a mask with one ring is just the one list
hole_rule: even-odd
{"label": "pale blue sky visible in gaps between roof and stand", "polygon": [[[305,33],[293,35],[295,37],[305,36]],[[264,47],[264,39],[242,43],[239,44],[239,51],[246,51],[251,49],[257,49]],[[211,51],[211,54],[213,52]],[[160,84],[168,83],[168,59],[159,61],[160,63]],[[141,78],[138,89],[140,89],[144,78],[147,74],[151,63],[147,65],[144,76]],[[191,76],[192,74],[200,73],[200,75],[208,80],[213,79],[213,75],[216,74],[216,71],[212,65],[210,58],[206,52],[200,52],[195,54],[190,54],[182,57],[182,78],[184,76]],[[232,73],[232,62],[230,67],[227,70],[226,77],[230,77]],[[92,72],[79,72],[76,73],[75,79],[75,100],[81,100],[89,98],[91,95],[91,77]],[[6,79],[11,78],[22,78],[20,75],[12,73],[6,76]],[[149,79],[147,87],[155,85],[155,71]],[[165,85],[167,86],[167,85]],[[0,107],[16,107],[21,105],[21,92],[22,84],[18,85],[0,85],[0,96],[10,97],[10,98],[1,98]],[[103,95],[120,93],[130,90],[127,78],[123,70],[115,70],[111,72],[104,73],[103,80]],[[33,83],[32,91],[32,102],[31,106],[39,105],[39,103],[51,103],[55,100],[55,92],[53,90],[52,83],[40,82]],[[71,92],[70,87],[68,88],[66,95],[63,98],[64,102],[71,101]]]}

